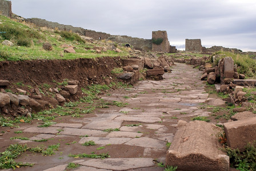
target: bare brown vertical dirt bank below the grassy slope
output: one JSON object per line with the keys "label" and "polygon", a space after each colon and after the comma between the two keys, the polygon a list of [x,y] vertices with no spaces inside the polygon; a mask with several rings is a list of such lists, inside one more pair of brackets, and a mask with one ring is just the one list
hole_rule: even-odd
{"label": "bare brown vertical dirt bank below the grassy slope", "polygon": [[111,70],[122,66],[121,58],[96,58],[74,60],[25,60],[0,62],[0,79],[10,83],[23,82],[31,86],[51,84],[63,79],[78,80],[80,84],[103,83]]}

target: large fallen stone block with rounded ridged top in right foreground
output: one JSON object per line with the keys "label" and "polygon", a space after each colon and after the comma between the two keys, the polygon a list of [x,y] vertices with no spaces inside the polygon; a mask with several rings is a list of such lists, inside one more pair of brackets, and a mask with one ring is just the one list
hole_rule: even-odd
{"label": "large fallen stone block with rounded ridged top in right foreground", "polygon": [[221,128],[205,121],[183,124],[166,153],[166,165],[179,170],[229,170],[229,157],[215,136],[219,132]]}

